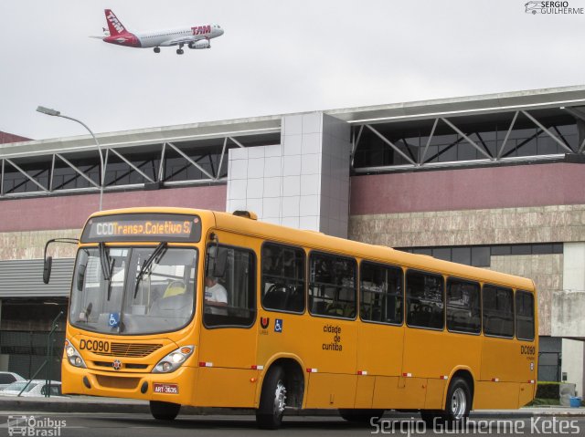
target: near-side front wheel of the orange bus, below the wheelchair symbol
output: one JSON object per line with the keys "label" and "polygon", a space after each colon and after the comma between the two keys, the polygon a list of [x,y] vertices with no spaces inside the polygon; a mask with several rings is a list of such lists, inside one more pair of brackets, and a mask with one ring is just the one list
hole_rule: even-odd
{"label": "near-side front wheel of the orange bus, below the wheelchair symbol", "polygon": [[282,424],[286,407],[286,378],[281,366],[268,371],[260,396],[260,406],[256,410],[256,422],[262,430],[276,430]]}

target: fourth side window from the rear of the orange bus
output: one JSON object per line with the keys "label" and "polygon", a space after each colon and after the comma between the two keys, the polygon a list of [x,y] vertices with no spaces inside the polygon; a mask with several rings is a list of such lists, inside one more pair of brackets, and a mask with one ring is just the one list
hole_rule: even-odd
{"label": "fourth side window from the rear of the orange bus", "polygon": [[443,278],[409,270],[406,274],[407,318],[410,327],[443,328]]}

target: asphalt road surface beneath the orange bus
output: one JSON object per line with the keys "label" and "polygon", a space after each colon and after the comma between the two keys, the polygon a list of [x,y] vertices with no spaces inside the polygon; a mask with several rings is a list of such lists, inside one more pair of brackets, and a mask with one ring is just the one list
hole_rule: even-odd
{"label": "asphalt road surface beneath the orange bus", "polygon": [[[11,423],[15,423],[15,413]],[[234,436],[246,437],[257,435],[293,435],[320,437],[335,436],[367,436],[367,435],[478,435],[476,429],[470,427],[460,432],[432,432],[423,429],[418,417],[410,419],[384,419],[378,426],[348,423],[337,417],[296,416],[286,418],[279,431],[261,431],[256,428],[254,417],[250,415],[233,416],[186,416],[172,422],[154,421],[149,414],[100,414],[100,413],[27,413],[18,415],[27,417],[27,430],[24,435],[44,436],[82,436],[82,437],[150,437],[167,435],[179,436]],[[31,419],[34,416],[34,419]],[[484,421],[480,423],[479,421]],[[22,421],[20,422],[23,423]],[[535,417],[496,420],[476,419],[472,426],[484,426],[484,435],[583,435],[585,436],[585,417]],[[33,426],[30,426],[30,425]],[[60,428],[58,428],[60,425]],[[499,427],[499,428],[498,428]],[[34,430],[31,432],[30,430]],[[13,435],[19,429],[11,427]],[[21,430],[22,431],[22,430]],[[9,435],[8,412],[0,412],[0,436]]]}

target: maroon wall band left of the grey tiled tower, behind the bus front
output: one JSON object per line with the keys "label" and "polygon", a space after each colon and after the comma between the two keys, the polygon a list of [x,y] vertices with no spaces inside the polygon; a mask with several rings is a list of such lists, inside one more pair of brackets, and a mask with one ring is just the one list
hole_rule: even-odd
{"label": "maroon wall band left of the grey tiled tower, behind the bus front", "polygon": [[[227,185],[213,185],[109,192],[103,195],[103,209],[178,206],[225,211],[226,189]],[[99,206],[99,194],[4,200],[0,202],[0,232],[80,229]]]}

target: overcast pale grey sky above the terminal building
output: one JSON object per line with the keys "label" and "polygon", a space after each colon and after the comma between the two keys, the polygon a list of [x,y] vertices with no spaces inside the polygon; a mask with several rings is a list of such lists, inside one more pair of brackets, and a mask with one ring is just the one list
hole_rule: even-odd
{"label": "overcast pale grey sky above the terminal building", "polygon": [[[35,140],[585,83],[585,15],[526,0],[4,0],[0,130]],[[585,0],[570,0],[585,7]],[[210,50],[91,39],[217,23]]]}

